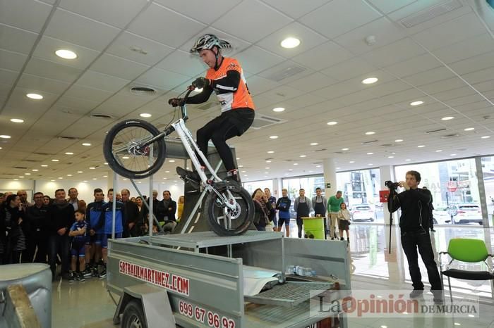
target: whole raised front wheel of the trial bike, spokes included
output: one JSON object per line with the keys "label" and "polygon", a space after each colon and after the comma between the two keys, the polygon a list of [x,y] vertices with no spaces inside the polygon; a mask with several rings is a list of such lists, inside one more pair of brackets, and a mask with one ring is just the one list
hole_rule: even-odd
{"label": "whole raised front wheel of the trial bike, spokes included", "polygon": [[103,153],[109,167],[128,179],[144,179],[157,172],[166,158],[164,139],[145,144],[159,133],[144,120],[119,122],[104,138]]}

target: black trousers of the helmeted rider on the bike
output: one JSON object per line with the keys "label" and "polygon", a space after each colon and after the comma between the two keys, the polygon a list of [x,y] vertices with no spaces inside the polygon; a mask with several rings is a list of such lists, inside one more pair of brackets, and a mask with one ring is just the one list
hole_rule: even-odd
{"label": "black trousers of the helmeted rider on the bike", "polygon": [[[207,142],[211,140],[227,171],[234,170],[234,156],[226,141],[241,136],[251,127],[253,120],[254,111],[251,108],[237,108],[222,113],[198,130],[197,144],[200,151],[207,157]],[[198,158],[201,165],[205,166],[202,158]]]}

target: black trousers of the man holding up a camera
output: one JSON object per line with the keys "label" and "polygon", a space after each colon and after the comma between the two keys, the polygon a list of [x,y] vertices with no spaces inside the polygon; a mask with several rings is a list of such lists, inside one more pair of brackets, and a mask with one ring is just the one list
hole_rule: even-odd
{"label": "black trousers of the man holding up a camera", "polygon": [[414,289],[423,289],[422,275],[418,267],[418,253],[427,268],[427,275],[430,282],[430,289],[442,289],[442,282],[439,275],[438,265],[434,260],[434,252],[430,243],[430,234],[427,231],[402,232],[403,251],[408,260],[411,282]]}

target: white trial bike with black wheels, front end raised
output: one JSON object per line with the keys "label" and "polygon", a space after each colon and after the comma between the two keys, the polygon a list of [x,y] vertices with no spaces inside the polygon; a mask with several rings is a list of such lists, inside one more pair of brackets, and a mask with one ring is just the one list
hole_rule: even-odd
{"label": "white trial bike with black wheels, front end raised", "polygon": [[[207,191],[204,213],[212,231],[219,236],[243,234],[253,222],[253,200],[239,183],[219,178],[195,143],[185,125],[188,120],[185,102],[191,92],[188,88],[179,103],[181,118],[161,132],[150,122],[139,119],[124,120],[112,127],[104,139],[104,158],[117,174],[128,179],[144,179],[162,167],[167,155],[164,138],[175,131],[200,176],[200,186]],[[196,153],[203,159],[212,179],[201,169]]]}

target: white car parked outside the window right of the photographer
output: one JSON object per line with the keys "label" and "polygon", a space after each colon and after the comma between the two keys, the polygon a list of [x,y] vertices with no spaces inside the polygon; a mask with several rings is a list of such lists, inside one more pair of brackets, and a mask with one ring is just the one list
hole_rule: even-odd
{"label": "white car parked outside the window right of the photographer", "polygon": [[[451,214],[453,220],[451,220]],[[476,203],[450,204],[433,210],[434,224],[438,225],[463,225],[466,223],[478,223],[482,225],[481,207]]]}

